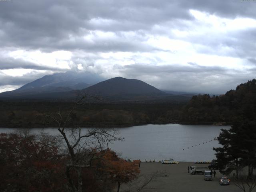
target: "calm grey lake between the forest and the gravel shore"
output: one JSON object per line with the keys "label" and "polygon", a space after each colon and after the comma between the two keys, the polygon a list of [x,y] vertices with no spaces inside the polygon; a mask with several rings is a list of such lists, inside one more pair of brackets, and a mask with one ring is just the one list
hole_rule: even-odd
{"label": "calm grey lake between the forest and the gravel shore", "polygon": [[[211,161],[215,158],[213,147],[218,141],[213,140],[220,129],[230,126],[213,125],[143,125],[128,128],[117,128],[124,141],[110,144],[110,148],[122,154],[123,158],[132,160],[168,160],[176,161]],[[84,128],[86,129],[86,128]],[[0,132],[12,132],[16,129],[0,128]],[[33,128],[37,133],[41,128]],[[44,128],[44,132],[58,134],[56,128]]]}

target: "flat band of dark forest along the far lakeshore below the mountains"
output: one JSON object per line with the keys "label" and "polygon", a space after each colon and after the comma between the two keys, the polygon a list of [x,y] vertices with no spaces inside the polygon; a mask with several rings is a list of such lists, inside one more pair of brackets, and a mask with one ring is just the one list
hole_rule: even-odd
{"label": "flat band of dark forest along the far lakeshore below the mountains", "polygon": [[[66,116],[71,102],[0,102],[0,127],[57,126],[48,114],[59,110]],[[104,104],[85,103],[76,107],[68,126],[124,127],[140,124],[178,122],[182,103]]]}

